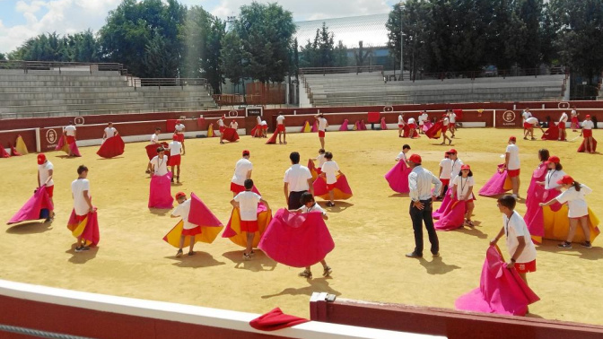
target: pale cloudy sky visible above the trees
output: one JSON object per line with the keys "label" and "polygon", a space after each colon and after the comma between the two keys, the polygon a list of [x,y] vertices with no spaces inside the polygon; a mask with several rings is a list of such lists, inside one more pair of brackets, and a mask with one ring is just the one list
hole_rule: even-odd
{"label": "pale cloudy sky visible above the trees", "polygon": [[[226,19],[238,15],[247,0],[179,0],[181,4],[200,5],[206,11]],[[266,0],[259,0],[267,3]],[[293,13],[296,22],[389,13],[397,0],[271,0]],[[0,53],[22,45],[41,33],[97,31],[110,10],[121,0],[0,0]]]}

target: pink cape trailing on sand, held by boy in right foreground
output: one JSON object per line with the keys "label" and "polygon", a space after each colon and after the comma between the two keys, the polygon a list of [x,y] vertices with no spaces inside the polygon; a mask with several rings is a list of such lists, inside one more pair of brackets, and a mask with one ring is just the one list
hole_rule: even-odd
{"label": "pink cape trailing on sand, held by boy in right foreground", "polygon": [[454,306],[475,312],[525,316],[528,305],[538,300],[517,270],[507,269],[497,248],[491,246],[485,253],[479,288],[460,296]]}

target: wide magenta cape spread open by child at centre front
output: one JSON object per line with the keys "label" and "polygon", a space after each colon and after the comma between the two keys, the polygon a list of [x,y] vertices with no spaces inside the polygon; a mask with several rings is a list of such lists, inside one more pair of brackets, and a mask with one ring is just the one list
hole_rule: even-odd
{"label": "wide magenta cape spread open by child at centre front", "polygon": [[275,262],[293,267],[319,263],[335,248],[322,214],[276,212],[258,248]]}

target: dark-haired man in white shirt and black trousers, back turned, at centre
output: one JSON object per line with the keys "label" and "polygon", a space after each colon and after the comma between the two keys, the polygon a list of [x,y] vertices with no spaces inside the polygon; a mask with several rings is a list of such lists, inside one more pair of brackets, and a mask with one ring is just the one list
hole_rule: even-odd
{"label": "dark-haired man in white shirt and black trousers, back turned, at centre", "polygon": [[287,201],[287,209],[296,210],[301,207],[301,195],[310,191],[314,196],[312,186],[312,174],[310,170],[300,165],[300,153],[292,152],[289,155],[291,167],[284,172],[284,199]]}

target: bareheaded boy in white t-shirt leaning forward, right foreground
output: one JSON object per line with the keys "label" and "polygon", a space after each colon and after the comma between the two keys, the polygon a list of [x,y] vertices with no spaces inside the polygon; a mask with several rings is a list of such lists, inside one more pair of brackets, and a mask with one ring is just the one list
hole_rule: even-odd
{"label": "bareheaded boy in white t-shirt leaning forward, right foreground", "polygon": [[498,198],[498,209],[503,214],[502,229],[498,232],[496,238],[490,241],[490,246],[496,245],[502,235],[507,237],[507,249],[509,250],[510,260],[507,268],[513,267],[520,274],[526,284],[528,272],[536,272],[536,247],[529,235],[528,225],[521,217],[520,213],[514,211],[517,204],[515,197],[505,195]]}

